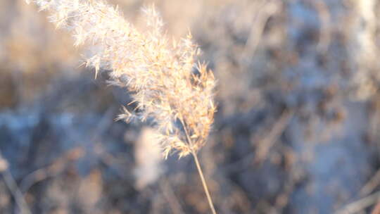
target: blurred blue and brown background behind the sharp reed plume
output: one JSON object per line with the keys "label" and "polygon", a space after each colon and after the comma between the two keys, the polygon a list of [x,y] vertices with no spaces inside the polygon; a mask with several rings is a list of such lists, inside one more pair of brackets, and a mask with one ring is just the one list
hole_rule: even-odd
{"label": "blurred blue and brown background behind the sharp reed plume", "polygon": [[[152,2],[110,1],[137,26]],[[154,2],[218,80],[200,152],[218,213],[380,213],[379,1]],[[0,1],[0,213],[209,213],[191,157],[115,122],[128,92],[47,15]]]}

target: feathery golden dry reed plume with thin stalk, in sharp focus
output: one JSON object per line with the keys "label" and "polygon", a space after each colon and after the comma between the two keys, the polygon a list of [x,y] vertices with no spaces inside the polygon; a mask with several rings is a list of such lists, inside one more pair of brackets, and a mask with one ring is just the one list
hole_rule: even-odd
{"label": "feathery golden dry reed plume with thin stalk, in sharp focus", "polygon": [[215,213],[197,157],[213,123],[215,80],[204,64],[196,63],[200,51],[191,34],[179,42],[169,42],[153,6],[144,8],[148,30],[140,32],[117,7],[101,0],[32,1],[51,13],[56,27],[74,34],[75,46],[91,44],[95,54],[87,59],[87,66],[94,67],[96,74],[101,68],[111,70],[110,82],[133,93],[138,113],[124,108],[118,119],[152,118],[165,157],[172,151],[178,151],[179,157],[194,156]]}

